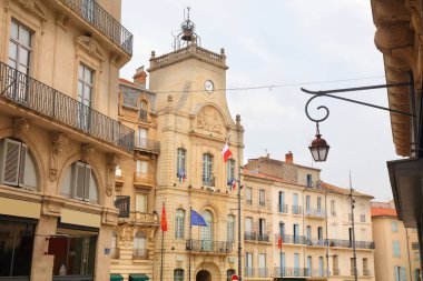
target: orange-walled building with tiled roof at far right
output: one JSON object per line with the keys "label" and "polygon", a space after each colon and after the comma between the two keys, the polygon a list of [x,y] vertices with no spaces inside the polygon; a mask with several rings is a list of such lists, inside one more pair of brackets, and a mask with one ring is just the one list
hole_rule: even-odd
{"label": "orange-walled building with tiled roof at far right", "polygon": [[420,281],[420,244],[416,229],[405,228],[395,204],[372,202],[372,228],[376,243],[375,275],[386,281]]}

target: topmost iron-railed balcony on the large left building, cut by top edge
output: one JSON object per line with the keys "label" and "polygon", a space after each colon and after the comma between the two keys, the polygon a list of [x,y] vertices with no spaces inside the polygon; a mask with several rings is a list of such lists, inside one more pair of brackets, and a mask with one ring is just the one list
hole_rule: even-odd
{"label": "topmost iron-railed balcony on the large left building, cut by top edge", "polygon": [[94,0],[60,0],[128,56],[132,56],[132,34]]}

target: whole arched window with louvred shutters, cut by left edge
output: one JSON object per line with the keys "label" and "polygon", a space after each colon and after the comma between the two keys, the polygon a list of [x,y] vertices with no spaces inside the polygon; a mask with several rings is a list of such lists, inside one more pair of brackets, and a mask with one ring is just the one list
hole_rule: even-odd
{"label": "whole arched window with louvred shutters, cut by left edge", "polygon": [[38,190],[38,172],[27,144],[9,138],[0,140],[0,183]]}

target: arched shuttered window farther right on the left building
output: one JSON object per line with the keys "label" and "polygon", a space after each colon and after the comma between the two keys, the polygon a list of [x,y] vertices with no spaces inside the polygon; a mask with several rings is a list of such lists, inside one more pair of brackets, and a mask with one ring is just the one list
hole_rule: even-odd
{"label": "arched shuttered window farther right on the left building", "polygon": [[98,203],[98,187],[91,165],[80,161],[71,164],[65,173],[61,194],[67,198]]}

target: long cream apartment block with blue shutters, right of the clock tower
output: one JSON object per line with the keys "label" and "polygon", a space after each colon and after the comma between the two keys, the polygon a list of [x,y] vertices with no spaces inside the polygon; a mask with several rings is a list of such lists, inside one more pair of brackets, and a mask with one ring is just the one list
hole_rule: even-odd
{"label": "long cream apartment block with blue shutters, right of the clock tower", "polygon": [[[323,182],[318,169],[293,158],[267,155],[244,167],[244,278],[353,280],[350,190]],[[371,199],[353,191],[358,280],[375,280]]]}

